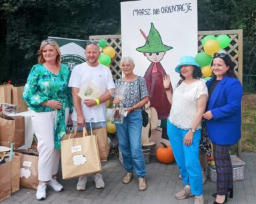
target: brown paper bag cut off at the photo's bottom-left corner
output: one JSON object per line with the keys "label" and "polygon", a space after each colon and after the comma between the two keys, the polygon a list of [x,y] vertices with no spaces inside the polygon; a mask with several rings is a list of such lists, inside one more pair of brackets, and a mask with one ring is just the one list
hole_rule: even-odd
{"label": "brown paper bag cut off at the photo's bottom-left corner", "polygon": [[8,159],[4,160],[5,163],[0,164],[0,201],[11,197],[11,163]]}

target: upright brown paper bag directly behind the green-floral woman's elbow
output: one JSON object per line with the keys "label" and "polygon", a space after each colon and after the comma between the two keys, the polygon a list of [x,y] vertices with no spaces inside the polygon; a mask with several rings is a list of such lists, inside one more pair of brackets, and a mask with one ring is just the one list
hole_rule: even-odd
{"label": "upright brown paper bag directly behind the green-floral woman's elbow", "polygon": [[27,104],[23,100],[23,90],[24,86],[11,86],[11,104],[15,104],[17,106],[16,112],[25,112],[27,111]]}

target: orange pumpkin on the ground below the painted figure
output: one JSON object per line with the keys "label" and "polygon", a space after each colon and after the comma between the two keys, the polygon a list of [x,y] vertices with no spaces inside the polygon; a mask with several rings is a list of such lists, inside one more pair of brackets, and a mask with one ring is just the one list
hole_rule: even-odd
{"label": "orange pumpkin on the ground below the painted figure", "polygon": [[170,146],[167,146],[165,143],[161,142],[161,147],[157,149],[157,160],[161,163],[173,163],[174,155],[173,150]]}

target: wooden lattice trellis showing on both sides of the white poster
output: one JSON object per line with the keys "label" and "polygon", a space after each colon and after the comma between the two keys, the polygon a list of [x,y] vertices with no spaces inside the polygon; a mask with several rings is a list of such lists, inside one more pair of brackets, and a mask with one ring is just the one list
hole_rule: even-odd
{"label": "wooden lattice trellis showing on both sides of the white poster", "polygon": [[[225,48],[225,52],[229,54],[235,62],[235,72],[241,83],[243,82],[243,30],[228,30],[228,31],[199,31],[198,32],[198,51],[203,51],[202,39],[206,35],[222,35],[226,34],[230,37],[231,43],[229,47]],[[115,49],[116,55],[111,62],[111,72],[113,79],[121,78],[122,73],[119,68],[121,60],[121,35],[94,35],[89,37],[90,41],[97,41],[99,39],[107,40],[109,46]],[[241,156],[241,140],[237,145],[237,155]]]}

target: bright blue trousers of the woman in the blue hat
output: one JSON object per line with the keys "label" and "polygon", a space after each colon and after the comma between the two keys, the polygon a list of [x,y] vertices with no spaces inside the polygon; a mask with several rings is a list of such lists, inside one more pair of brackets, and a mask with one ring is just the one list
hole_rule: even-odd
{"label": "bright blue trousers of the woman in the blue hat", "polygon": [[188,130],[177,128],[167,122],[167,134],[173,149],[175,161],[179,166],[183,184],[191,186],[191,193],[194,195],[203,194],[203,180],[201,165],[199,162],[199,143],[201,130],[195,130],[191,146],[183,144],[183,138]]}

